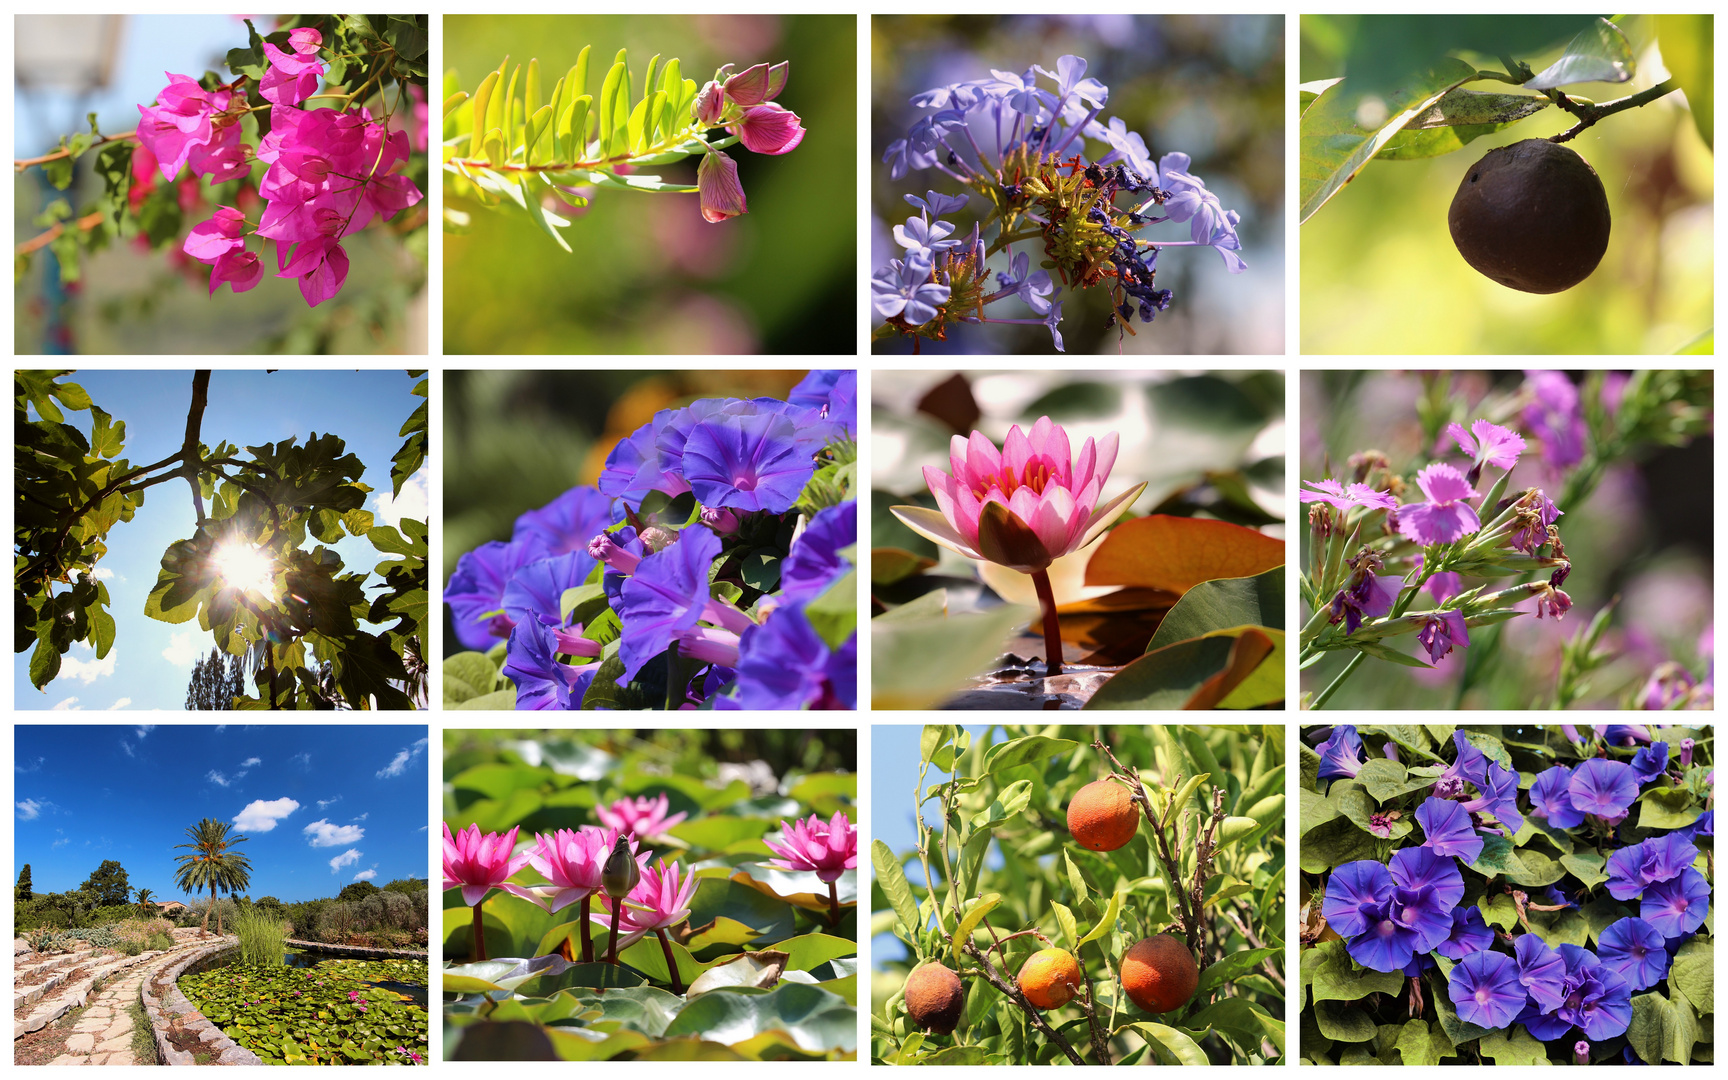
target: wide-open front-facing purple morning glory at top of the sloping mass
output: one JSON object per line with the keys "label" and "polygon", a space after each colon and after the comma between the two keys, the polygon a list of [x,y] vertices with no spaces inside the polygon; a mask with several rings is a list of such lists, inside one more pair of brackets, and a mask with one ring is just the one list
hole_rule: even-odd
{"label": "wide-open front-facing purple morning glory at top of the sloping mass", "polygon": [[684,480],[703,506],[785,513],[816,472],[798,427],[776,413],[726,411],[684,442]]}

